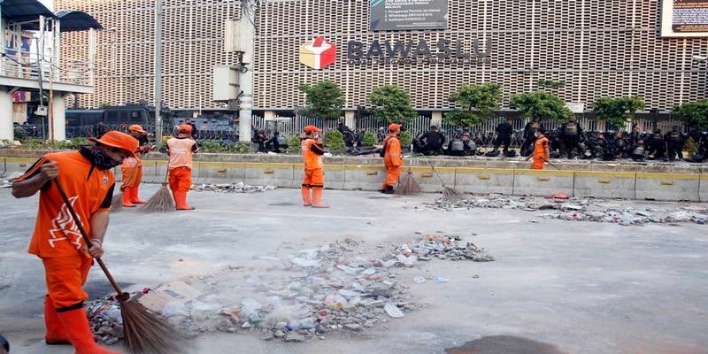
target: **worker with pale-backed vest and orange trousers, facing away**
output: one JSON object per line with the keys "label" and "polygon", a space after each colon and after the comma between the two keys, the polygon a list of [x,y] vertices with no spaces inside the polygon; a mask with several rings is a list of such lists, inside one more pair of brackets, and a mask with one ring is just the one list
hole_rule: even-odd
{"label": "worker with pale-backed vest and orange trousers, facing away", "polygon": [[167,141],[170,189],[177,210],[195,210],[187,204],[187,192],[192,187],[192,156],[199,151],[199,145],[192,139],[192,127],[189,124],[182,124],[177,130],[177,136]]}

